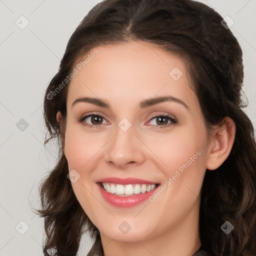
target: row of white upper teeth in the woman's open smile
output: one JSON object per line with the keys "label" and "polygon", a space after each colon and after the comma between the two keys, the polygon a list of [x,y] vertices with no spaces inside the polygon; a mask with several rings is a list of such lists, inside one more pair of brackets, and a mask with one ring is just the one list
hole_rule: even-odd
{"label": "row of white upper teeth in the woman's open smile", "polygon": [[125,196],[130,194],[139,194],[149,192],[155,188],[155,184],[113,184],[113,183],[102,183],[104,189],[112,194]]}

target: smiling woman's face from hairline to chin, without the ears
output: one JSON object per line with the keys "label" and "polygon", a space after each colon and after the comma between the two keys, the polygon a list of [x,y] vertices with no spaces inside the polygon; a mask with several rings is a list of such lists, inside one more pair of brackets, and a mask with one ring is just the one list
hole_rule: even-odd
{"label": "smiling woman's face from hairline to chin, without the ears", "polygon": [[195,226],[209,149],[183,62],[145,42],[97,50],[67,95],[64,153],[79,203],[119,241]]}

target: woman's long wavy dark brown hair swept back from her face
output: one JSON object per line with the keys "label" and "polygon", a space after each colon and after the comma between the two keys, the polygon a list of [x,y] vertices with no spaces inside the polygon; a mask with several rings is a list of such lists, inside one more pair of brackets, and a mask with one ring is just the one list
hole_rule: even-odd
{"label": "woman's long wavy dark brown hair swept back from her face", "polygon": [[[65,122],[69,82],[63,85],[63,80],[89,50],[130,40],[154,43],[185,62],[207,130],[226,116],[234,120],[236,134],[229,156],[204,176],[199,234],[203,247],[213,255],[256,255],[254,129],[242,110],[247,104],[241,90],[242,50],[222,19],[214,9],[192,0],[104,0],[79,23],[44,96],[48,131],[44,144],[56,138],[59,145],[58,162],[39,186],[41,208],[36,213],[44,217],[44,255],[54,248],[54,255],[74,256],[84,232],[100,237],[67,178],[64,130],[56,121],[59,110]],[[220,228],[225,221],[234,226],[229,234]]]}

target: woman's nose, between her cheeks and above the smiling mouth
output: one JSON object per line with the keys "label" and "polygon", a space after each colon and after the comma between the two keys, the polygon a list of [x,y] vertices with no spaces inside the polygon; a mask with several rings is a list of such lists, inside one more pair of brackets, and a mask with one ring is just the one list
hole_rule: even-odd
{"label": "woman's nose, between her cheeks and above the smiling mouth", "polygon": [[134,133],[132,125],[126,131],[117,126],[115,135],[105,149],[105,160],[112,167],[136,166],[142,164],[145,159],[145,146]]}

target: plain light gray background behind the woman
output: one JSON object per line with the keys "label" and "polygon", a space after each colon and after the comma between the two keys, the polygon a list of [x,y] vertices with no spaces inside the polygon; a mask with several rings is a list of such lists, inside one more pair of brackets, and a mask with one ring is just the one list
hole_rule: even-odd
{"label": "plain light gray background behind the woman", "polygon": [[[243,50],[245,112],[256,127],[256,0],[200,1],[234,21],[230,29]],[[0,256],[43,255],[43,219],[29,204],[38,205],[38,182],[56,161],[54,143],[43,146],[43,95],[71,33],[98,2],[0,0]],[[29,21],[24,29],[15,23],[21,15]],[[28,123],[23,131],[16,126],[21,118]],[[91,244],[84,236],[79,255]]]}

